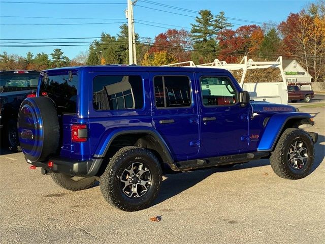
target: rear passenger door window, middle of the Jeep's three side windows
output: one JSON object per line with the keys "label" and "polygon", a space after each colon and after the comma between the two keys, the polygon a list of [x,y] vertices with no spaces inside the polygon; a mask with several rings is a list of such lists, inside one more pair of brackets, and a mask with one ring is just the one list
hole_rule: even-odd
{"label": "rear passenger door window, middle of the Jeep's three side windows", "polygon": [[187,76],[155,76],[153,79],[157,108],[189,107],[191,90]]}

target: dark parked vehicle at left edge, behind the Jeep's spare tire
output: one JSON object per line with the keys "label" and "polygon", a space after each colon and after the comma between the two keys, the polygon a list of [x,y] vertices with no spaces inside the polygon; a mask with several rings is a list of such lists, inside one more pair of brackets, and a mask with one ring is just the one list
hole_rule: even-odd
{"label": "dark parked vehicle at left edge, behind the Jeep's spare tire", "polygon": [[0,71],[1,139],[11,151],[19,151],[17,116],[21,102],[36,96],[40,72],[31,70]]}

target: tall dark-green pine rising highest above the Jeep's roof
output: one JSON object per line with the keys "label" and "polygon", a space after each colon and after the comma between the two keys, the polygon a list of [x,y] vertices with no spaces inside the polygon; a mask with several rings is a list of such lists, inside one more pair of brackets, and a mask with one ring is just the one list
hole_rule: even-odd
{"label": "tall dark-green pine rising highest above the Jeep's roof", "polygon": [[226,21],[224,12],[214,16],[210,10],[200,10],[196,24],[191,24],[194,62],[207,63],[216,58],[219,32],[232,25]]}

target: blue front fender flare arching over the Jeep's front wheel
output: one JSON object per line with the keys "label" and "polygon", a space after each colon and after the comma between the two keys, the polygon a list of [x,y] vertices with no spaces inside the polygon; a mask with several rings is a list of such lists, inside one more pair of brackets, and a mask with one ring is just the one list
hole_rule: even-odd
{"label": "blue front fender flare arching over the Jeep's front wheel", "polygon": [[313,125],[312,116],[309,113],[277,113],[270,117],[261,140],[258,143],[257,151],[272,151],[281,132],[290,119],[306,121],[303,124]]}

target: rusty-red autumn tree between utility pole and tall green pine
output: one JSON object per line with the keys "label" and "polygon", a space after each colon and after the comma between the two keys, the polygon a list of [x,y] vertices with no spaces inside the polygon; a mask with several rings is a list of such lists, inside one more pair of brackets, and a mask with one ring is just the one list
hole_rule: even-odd
{"label": "rusty-red autumn tree between utility pole and tall green pine", "polygon": [[188,31],[168,29],[165,33],[160,33],[155,37],[149,53],[167,51],[177,59],[177,62],[184,62],[190,59],[190,47],[191,37]]}

